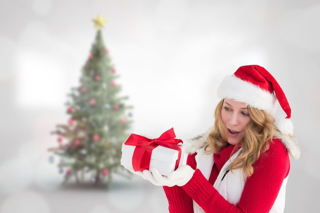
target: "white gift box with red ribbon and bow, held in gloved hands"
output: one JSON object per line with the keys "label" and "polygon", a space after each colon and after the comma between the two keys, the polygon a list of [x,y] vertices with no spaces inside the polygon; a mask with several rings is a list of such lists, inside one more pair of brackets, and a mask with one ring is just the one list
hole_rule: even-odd
{"label": "white gift box with red ribbon and bow, held in gloved hands", "polygon": [[168,174],[186,163],[185,145],[174,138],[173,128],[159,138],[131,134],[122,145],[121,165],[134,171],[156,168],[160,174]]}

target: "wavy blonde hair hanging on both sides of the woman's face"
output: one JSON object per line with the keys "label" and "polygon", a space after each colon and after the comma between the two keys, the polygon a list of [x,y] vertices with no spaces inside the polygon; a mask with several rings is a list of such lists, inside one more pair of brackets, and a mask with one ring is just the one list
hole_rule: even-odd
{"label": "wavy blonde hair hanging on both sides of the woman's face", "polygon": [[[219,154],[228,145],[224,124],[221,120],[223,99],[215,109],[214,129],[209,133],[205,150]],[[273,133],[276,131],[275,118],[263,110],[248,107],[250,121],[241,141],[242,154],[231,164],[230,170],[243,168],[243,175],[250,177],[254,173],[253,164],[260,155],[269,149]],[[235,152],[235,151],[234,151]],[[232,154],[234,154],[234,152]]]}

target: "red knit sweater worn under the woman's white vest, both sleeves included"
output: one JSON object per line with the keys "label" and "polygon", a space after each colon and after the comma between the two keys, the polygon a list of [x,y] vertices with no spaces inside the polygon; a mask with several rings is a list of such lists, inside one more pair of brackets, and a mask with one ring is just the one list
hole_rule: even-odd
{"label": "red knit sweater worn under the woman's white vest, both sleeves included", "polygon": [[237,205],[226,201],[213,187],[223,166],[229,159],[234,146],[214,154],[214,165],[209,181],[196,169],[195,155],[188,156],[187,164],[195,169],[191,180],[184,186],[164,186],[171,213],[193,212],[193,200],[207,213],[269,212],[275,202],[283,180],[288,176],[290,162],[287,149],[279,139],[273,139],[269,150],[254,163],[254,174],[247,178]]}

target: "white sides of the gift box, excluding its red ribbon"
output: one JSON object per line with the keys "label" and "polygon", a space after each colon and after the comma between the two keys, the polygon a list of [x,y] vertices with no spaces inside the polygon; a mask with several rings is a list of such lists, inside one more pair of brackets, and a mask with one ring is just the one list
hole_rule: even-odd
{"label": "white sides of the gift box, excluding its red ribbon", "polygon": [[[185,154],[185,145],[177,145],[181,149],[181,157],[179,166],[186,164],[187,154]],[[135,146],[122,144],[122,156],[120,164],[128,168],[132,166],[132,156]],[[156,168],[160,174],[168,176],[170,172],[175,170],[175,164],[178,159],[179,152],[175,149],[170,149],[163,146],[157,146],[152,150],[151,160],[149,164],[149,171],[152,168]]]}

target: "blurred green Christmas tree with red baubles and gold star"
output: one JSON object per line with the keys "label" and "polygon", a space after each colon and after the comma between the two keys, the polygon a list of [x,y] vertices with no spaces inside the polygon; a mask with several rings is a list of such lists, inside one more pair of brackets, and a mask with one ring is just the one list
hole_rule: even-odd
{"label": "blurred green Christmas tree with red baubles and gold star", "polygon": [[121,146],[128,137],[131,113],[125,105],[128,97],[121,97],[116,68],[111,63],[101,29],[106,21],[93,19],[96,39],[82,68],[80,86],[68,94],[67,124],[58,124],[58,147],[49,151],[60,156],[58,167],[64,183],[72,177],[78,183],[111,183],[112,174],[128,176],[120,165]]}

